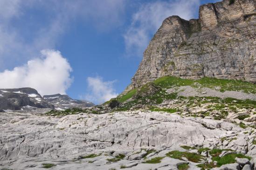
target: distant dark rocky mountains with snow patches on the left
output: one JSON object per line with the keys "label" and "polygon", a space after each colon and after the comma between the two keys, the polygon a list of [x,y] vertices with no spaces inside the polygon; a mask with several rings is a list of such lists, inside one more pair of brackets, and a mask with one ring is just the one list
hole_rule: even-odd
{"label": "distant dark rocky mountains with snow patches on the left", "polygon": [[0,110],[32,111],[42,108],[65,110],[69,108],[86,108],[93,103],[74,100],[68,95],[44,95],[43,97],[34,88],[7,88],[0,89]]}

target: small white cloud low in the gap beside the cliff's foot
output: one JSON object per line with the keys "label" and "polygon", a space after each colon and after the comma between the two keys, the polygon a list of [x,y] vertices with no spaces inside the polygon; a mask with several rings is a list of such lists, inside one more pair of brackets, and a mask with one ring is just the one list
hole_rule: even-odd
{"label": "small white cloud low in the gap beside the cliff's foot", "polygon": [[103,103],[111,98],[116,97],[118,94],[113,88],[115,81],[104,82],[102,77],[88,77],[88,94],[85,98],[94,103]]}

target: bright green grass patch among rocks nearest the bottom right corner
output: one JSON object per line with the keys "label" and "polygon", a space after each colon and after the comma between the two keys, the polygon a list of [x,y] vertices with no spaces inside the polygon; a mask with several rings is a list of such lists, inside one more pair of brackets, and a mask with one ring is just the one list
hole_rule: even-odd
{"label": "bright green grass patch among rocks nearest the bottom right corner", "polygon": [[217,167],[220,167],[221,165],[224,165],[224,164],[229,164],[229,163],[235,163],[236,160],[235,160],[235,157],[238,157],[238,158],[247,158],[247,159],[251,159],[251,157],[249,156],[244,156],[243,154],[241,153],[230,153],[230,154],[227,154],[225,156],[222,156],[222,157],[219,157],[219,156],[215,156],[212,158],[213,161],[217,161]]}

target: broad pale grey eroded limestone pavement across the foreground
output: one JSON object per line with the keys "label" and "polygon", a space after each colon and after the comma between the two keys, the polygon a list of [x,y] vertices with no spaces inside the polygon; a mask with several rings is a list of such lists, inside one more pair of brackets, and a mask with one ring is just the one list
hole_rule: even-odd
{"label": "broad pale grey eroded limestone pavement across the foreground", "polygon": [[[256,132],[231,122],[143,110],[63,117],[13,112],[0,113],[0,118],[0,166],[13,170],[42,169],[43,163],[55,165],[54,170],[162,170],[184,162],[199,169],[199,163],[166,156],[185,151],[183,145],[256,156]],[[144,163],[156,157],[160,163]]]}

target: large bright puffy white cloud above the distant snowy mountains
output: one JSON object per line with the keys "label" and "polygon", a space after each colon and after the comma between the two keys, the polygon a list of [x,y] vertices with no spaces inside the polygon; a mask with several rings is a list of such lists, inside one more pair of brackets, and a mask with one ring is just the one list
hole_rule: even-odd
{"label": "large bright puffy white cloud above the distant snowy mountains", "polygon": [[0,88],[31,87],[41,95],[65,94],[72,78],[72,68],[59,51],[42,50],[41,58],[35,58],[21,67],[0,73]]}

